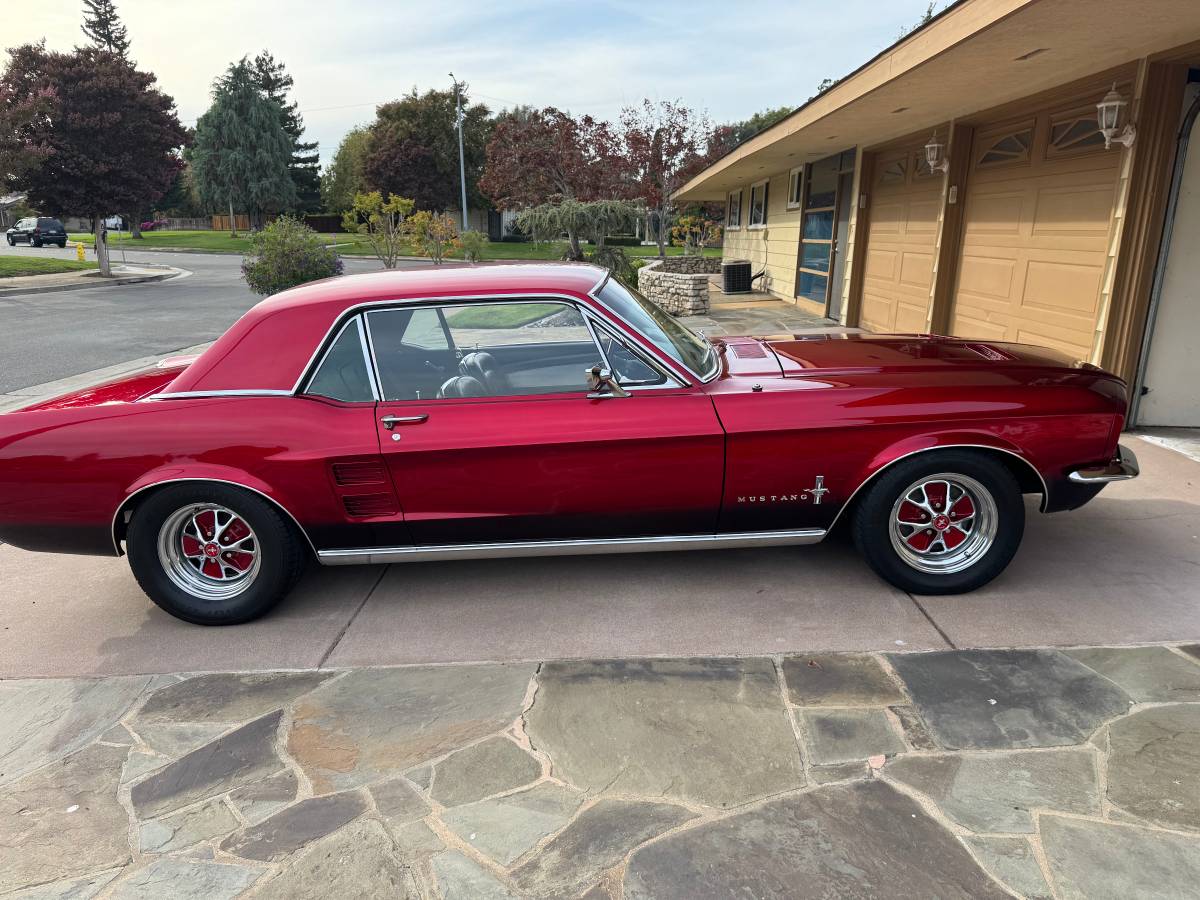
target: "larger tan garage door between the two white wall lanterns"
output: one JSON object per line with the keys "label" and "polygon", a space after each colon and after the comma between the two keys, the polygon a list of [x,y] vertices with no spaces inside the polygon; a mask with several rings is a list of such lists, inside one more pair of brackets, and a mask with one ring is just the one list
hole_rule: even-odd
{"label": "larger tan garage door between the two white wall lanterns", "polygon": [[1093,106],[977,130],[953,334],[1091,354],[1120,162]]}

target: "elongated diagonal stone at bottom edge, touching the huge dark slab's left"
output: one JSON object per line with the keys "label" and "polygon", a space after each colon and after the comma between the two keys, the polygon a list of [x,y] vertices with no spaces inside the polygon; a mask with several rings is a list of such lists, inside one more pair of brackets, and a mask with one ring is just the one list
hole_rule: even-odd
{"label": "elongated diagonal stone at bottom edge, touching the huge dark slab's left", "polygon": [[517,893],[546,900],[577,896],[638,844],[694,816],[673,804],[600,800],[512,874]]}

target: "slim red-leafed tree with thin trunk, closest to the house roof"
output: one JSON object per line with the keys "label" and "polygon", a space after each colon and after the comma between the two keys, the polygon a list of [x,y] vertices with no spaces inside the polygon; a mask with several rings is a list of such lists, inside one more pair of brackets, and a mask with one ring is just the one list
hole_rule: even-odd
{"label": "slim red-leafed tree with thin trunk, closest to the house roof", "polygon": [[659,256],[664,256],[674,211],[671,194],[686,181],[688,172],[702,167],[696,160],[709,145],[712,127],[704,115],[671,100],[625,107],[620,124],[636,196],[656,220]]}

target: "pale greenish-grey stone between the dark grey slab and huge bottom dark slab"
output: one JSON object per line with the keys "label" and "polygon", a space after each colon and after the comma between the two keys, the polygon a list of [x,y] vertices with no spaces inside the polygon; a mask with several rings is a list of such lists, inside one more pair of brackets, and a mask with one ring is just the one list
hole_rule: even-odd
{"label": "pale greenish-grey stone between the dark grey slab and huge bottom dark slab", "polygon": [[1099,786],[1087,750],[986,756],[910,756],[884,770],[973,832],[1032,833],[1031,810],[1097,815]]}

